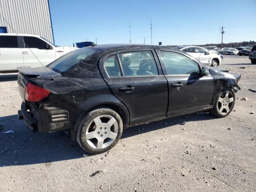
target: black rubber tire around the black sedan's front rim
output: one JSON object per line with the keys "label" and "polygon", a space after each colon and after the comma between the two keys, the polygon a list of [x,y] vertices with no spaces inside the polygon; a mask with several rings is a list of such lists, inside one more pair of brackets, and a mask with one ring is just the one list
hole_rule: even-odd
{"label": "black rubber tire around the black sedan's front rim", "polygon": [[[233,103],[232,103],[232,107],[230,108],[229,112],[225,113],[225,114],[222,114],[220,113],[219,111],[219,98],[220,96],[222,96],[224,94],[224,92],[226,91],[229,91],[232,93],[232,97],[233,97]],[[235,96],[235,92],[232,88],[228,87],[228,88],[224,88],[219,94],[218,94],[218,97],[216,98],[216,101],[214,103],[214,106],[212,108],[212,110],[210,110],[210,113],[218,118],[223,118],[223,117],[226,117],[228,116],[233,108],[234,108],[234,105],[235,105],[235,102],[236,102],[236,96]],[[221,104],[222,105],[222,104]]]}

